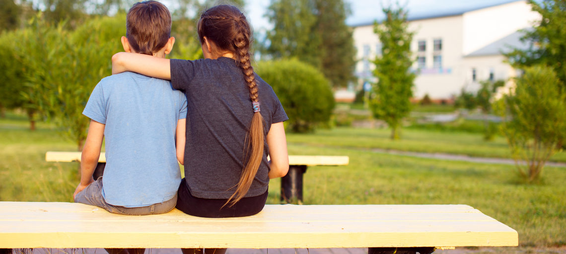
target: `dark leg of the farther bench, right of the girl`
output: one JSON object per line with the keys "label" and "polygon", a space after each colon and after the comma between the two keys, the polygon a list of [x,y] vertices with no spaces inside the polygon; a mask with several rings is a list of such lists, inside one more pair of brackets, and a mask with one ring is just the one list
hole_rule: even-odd
{"label": "dark leg of the farther bench, right of the girl", "polygon": [[303,174],[306,165],[289,165],[287,175],[281,178],[281,202],[303,204]]}

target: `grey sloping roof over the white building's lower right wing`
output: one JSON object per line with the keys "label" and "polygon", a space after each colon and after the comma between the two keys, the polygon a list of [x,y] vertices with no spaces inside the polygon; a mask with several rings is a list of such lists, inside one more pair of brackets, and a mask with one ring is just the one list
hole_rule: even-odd
{"label": "grey sloping roof over the white building's lower right wing", "polygon": [[511,35],[500,38],[497,41],[484,46],[481,49],[473,51],[465,55],[465,57],[481,57],[484,55],[500,55],[502,53],[509,53],[513,49],[529,49],[529,44],[521,41],[521,37],[525,35],[523,31],[511,33]]}

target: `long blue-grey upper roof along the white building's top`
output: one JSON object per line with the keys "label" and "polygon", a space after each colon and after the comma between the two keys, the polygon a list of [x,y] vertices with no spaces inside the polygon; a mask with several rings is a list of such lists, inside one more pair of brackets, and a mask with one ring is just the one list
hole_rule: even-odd
{"label": "long blue-grey upper roof along the white building's top", "polygon": [[[508,3],[522,2],[522,1],[524,0],[507,0],[496,4],[488,4],[488,5],[465,7],[465,8],[454,8],[451,10],[439,10],[437,8],[436,10],[431,9],[428,11],[415,11],[414,14],[412,12],[409,12],[408,20],[414,21],[414,20],[422,20],[422,19],[435,19],[435,18],[445,18],[450,16],[460,16],[470,11],[477,11],[484,8],[490,8],[494,6],[506,5]],[[375,20],[376,19],[355,23],[351,25],[351,27],[365,27],[366,25],[373,25]]]}

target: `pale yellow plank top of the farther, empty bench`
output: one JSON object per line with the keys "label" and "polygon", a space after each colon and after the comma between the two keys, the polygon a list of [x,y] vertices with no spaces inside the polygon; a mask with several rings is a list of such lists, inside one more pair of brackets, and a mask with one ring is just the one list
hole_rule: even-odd
{"label": "pale yellow plank top of the farther, empty bench", "polygon": [[[47,152],[45,153],[45,161],[80,161],[80,152]],[[98,162],[106,162],[105,153],[100,153]],[[348,156],[289,156],[290,165],[341,166],[348,165],[348,162]]]}

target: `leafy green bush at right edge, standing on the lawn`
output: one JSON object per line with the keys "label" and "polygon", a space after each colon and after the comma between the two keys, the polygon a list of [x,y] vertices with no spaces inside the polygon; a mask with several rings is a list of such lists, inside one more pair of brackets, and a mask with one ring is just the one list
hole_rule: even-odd
{"label": "leafy green bush at right edge, standing on the lawn", "polygon": [[546,66],[526,68],[516,83],[514,94],[499,101],[498,112],[517,169],[533,182],[566,135],[566,92]]}

